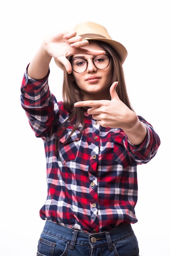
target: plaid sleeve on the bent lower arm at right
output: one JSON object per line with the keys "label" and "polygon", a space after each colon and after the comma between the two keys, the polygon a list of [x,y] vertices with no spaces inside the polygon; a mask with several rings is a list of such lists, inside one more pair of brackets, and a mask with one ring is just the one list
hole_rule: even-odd
{"label": "plaid sleeve on the bent lower arm at right", "polygon": [[139,117],[139,120],[143,122],[147,128],[147,135],[144,141],[139,145],[133,145],[130,143],[127,137],[124,139],[124,146],[130,155],[138,164],[146,164],[152,159],[159,148],[160,138],[151,126],[143,117]]}

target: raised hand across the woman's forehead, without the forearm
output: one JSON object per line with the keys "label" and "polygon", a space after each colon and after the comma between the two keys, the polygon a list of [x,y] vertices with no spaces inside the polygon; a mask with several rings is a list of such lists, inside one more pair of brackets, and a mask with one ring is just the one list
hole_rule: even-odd
{"label": "raised hand across the woman's forehead, without the forearm", "polygon": [[88,40],[82,40],[81,36],[76,36],[76,31],[63,32],[44,40],[46,52],[61,62],[68,73],[71,73],[72,67],[66,57],[74,54],[101,55],[105,53],[104,51],[84,49],[83,47],[87,45]]}

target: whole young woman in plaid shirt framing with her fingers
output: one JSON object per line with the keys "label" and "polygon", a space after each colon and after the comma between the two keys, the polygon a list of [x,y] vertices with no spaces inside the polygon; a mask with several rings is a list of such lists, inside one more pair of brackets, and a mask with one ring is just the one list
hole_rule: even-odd
{"label": "whole young woman in plaid shirt framing with her fingers", "polygon": [[[160,140],[130,105],[126,56],[103,26],[83,22],[46,38],[26,68],[22,107],[47,161],[37,256],[139,255],[137,164],[155,156]],[[63,102],[49,90],[51,58],[64,70]]]}

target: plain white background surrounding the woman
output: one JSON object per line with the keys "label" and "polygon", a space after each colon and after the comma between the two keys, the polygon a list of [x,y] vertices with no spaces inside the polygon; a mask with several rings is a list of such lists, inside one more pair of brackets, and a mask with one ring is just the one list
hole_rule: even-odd
{"label": "plain white background surrounding the woman", "polygon": [[[161,138],[157,155],[138,168],[138,222],[132,225],[140,256],[170,256],[168,0],[0,0],[0,255],[35,256],[44,226],[46,162],[20,106],[26,65],[49,31],[91,20],[128,50],[124,73],[138,115]],[[62,71],[51,62],[50,88],[62,99]]]}

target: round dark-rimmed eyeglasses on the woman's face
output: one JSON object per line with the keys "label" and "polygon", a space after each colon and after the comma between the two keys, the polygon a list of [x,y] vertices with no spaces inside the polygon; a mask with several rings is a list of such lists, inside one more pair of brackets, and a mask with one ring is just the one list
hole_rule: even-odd
{"label": "round dark-rimmed eyeglasses on the woman's face", "polygon": [[88,58],[88,59],[77,57],[73,61],[71,61],[72,69],[79,74],[85,72],[88,66],[88,60],[90,59],[92,59],[93,64],[99,70],[104,70],[106,67],[108,67],[110,63],[110,56],[106,54],[95,56],[93,58]]}

